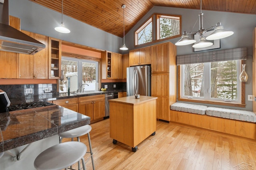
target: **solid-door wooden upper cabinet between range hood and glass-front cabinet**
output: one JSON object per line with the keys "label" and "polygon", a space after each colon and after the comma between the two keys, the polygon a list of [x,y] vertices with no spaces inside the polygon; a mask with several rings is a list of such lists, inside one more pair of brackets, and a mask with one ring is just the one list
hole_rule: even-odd
{"label": "solid-door wooden upper cabinet between range hood and glass-front cabinet", "polygon": [[19,78],[48,78],[48,37],[22,30],[23,33],[46,45],[35,55],[20,54],[19,56]]}

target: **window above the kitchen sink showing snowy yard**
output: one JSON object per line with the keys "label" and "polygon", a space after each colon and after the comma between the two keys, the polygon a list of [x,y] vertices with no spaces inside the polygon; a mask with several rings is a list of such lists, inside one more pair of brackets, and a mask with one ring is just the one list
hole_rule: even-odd
{"label": "window above the kitchen sink showing snowy yard", "polygon": [[63,80],[60,80],[60,93],[76,92],[82,84],[88,84],[81,87],[81,90],[96,90],[98,83],[98,62],[62,57],[61,70]]}

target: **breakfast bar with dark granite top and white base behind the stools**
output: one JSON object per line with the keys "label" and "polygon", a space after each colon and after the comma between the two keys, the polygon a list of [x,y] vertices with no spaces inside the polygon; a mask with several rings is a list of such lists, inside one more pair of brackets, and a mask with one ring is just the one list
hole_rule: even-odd
{"label": "breakfast bar with dark granite top and white base behind the stools", "polygon": [[0,169],[33,170],[36,156],[56,145],[59,133],[87,124],[90,117],[58,105],[0,113]]}

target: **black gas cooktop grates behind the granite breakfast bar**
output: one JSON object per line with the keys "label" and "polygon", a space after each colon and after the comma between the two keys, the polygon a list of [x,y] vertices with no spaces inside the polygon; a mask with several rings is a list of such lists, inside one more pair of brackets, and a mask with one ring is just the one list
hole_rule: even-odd
{"label": "black gas cooktop grates behind the granite breakfast bar", "polygon": [[44,107],[44,106],[51,106],[54,105],[53,103],[49,102],[29,102],[29,103],[22,103],[17,105],[11,105],[8,107],[8,111],[16,111],[16,110],[24,110],[24,109],[30,109],[30,108],[36,108],[36,107]]}

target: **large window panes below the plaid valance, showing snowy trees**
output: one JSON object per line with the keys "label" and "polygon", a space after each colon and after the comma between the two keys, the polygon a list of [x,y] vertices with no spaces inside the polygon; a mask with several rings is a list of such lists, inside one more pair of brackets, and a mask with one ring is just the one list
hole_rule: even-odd
{"label": "large window panes below the plaid valance, showing snowy trees", "polygon": [[181,66],[181,97],[241,103],[240,60]]}

